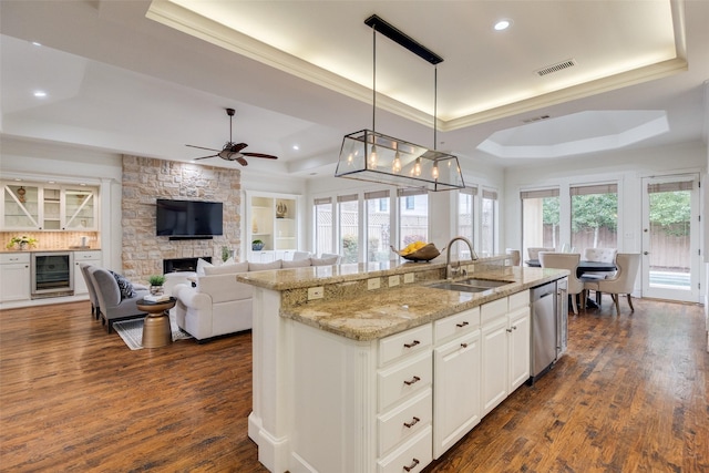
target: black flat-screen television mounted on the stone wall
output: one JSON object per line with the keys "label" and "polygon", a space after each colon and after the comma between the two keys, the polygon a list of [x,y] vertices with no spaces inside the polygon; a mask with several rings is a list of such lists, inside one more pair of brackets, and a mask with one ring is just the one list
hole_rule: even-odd
{"label": "black flat-screen television mounted on the stone wall", "polygon": [[157,236],[168,236],[171,239],[196,239],[224,234],[224,206],[220,202],[158,198],[155,204]]}

